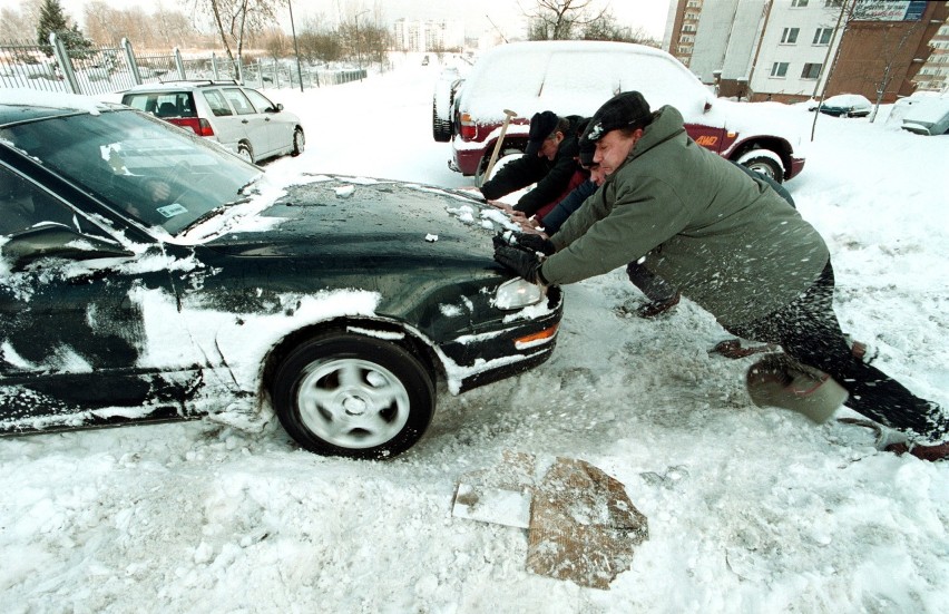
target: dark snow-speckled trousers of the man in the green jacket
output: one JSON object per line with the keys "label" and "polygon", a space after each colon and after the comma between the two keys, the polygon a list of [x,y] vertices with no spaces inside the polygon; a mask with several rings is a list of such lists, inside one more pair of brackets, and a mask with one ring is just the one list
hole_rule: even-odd
{"label": "dark snow-speckled trousers of the man in the green jacket", "polygon": [[794,359],[829,373],[850,393],[847,407],[920,442],[949,437],[949,416],[939,405],[913,396],[897,380],[854,358],[833,311],[833,269],[789,305],[730,332],[780,343]]}

